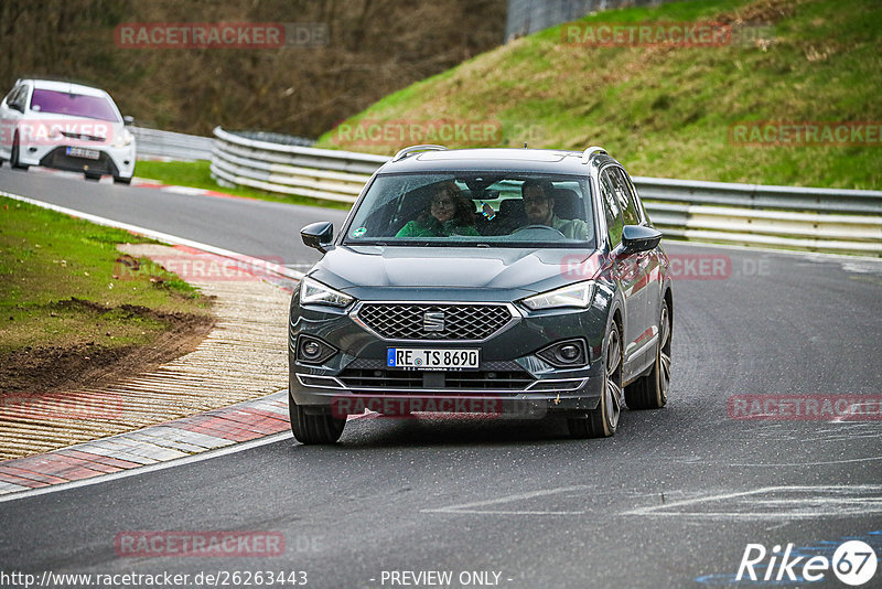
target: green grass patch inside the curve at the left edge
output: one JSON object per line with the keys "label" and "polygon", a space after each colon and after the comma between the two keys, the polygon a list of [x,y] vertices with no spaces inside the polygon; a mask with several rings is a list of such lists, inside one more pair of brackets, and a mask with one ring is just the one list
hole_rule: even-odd
{"label": "green grass patch inside the curve at the left edge", "polygon": [[150,272],[125,271],[117,244],[143,242],[0,197],[0,354],[149,344],[163,317],[206,315],[208,299],[175,275],[148,260]]}

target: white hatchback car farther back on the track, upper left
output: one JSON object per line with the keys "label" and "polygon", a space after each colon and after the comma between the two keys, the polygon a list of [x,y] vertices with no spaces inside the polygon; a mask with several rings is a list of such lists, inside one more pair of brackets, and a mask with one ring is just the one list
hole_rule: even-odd
{"label": "white hatchback car farther back on the track, upper left", "polygon": [[104,174],[128,184],[135,173],[135,136],[106,92],[45,79],[19,79],[0,103],[0,164],[43,165]]}

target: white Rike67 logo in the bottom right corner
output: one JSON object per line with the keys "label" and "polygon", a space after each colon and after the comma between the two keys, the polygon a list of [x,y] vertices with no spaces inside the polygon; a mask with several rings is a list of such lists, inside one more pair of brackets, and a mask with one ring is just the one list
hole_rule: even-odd
{"label": "white Rike67 logo in the bottom right corner", "polygon": [[762,544],[747,544],[736,581],[817,582],[830,580],[830,571],[846,585],[858,587],[875,575],[876,556],[872,546],[861,540],[839,545],[832,558],[809,555],[787,544],[775,545],[771,551]]}

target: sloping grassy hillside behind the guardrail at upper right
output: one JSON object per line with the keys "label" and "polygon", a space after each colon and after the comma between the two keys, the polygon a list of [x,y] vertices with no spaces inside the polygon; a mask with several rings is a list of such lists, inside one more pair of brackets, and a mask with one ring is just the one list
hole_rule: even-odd
{"label": "sloping grassy hillside behind the guardrail at upper right", "polygon": [[316,147],[392,153],[413,141],[365,140],[352,129],[473,121],[501,129],[487,144],[601,144],[637,175],[882,189],[878,132],[850,146],[730,139],[730,126],[744,121],[875,121],[879,129],[879,0],[692,0],[580,22],[684,21],[727,23],[733,42],[592,46],[568,43],[556,26],[387,96]]}

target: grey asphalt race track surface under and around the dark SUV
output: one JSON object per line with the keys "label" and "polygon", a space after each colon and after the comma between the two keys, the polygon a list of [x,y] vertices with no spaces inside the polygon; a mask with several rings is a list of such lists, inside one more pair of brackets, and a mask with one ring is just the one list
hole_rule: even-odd
{"label": "grey asphalt race track surface under and around the dark SUV", "polygon": [[[300,228],[344,217],[8,167],[0,190],[301,269],[318,254]],[[570,440],[562,424],[538,420],[357,419],[334,447],[289,437],[0,502],[0,570],[168,571],[190,575],[187,587],[201,586],[200,572],[234,571],[305,571],[316,588],[440,587],[424,574],[450,571],[452,587],[657,588],[734,586],[749,544],[770,553],[757,575],[776,545],[831,558],[857,538],[882,556],[882,261],[677,243],[667,251],[684,274],[670,401],[626,411],[612,439]],[[702,272],[709,256],[727,269]],[[868,403],[859,419],[738,418],[757,396],[779,395]],[[261,531],[284,550],[118,556],[115,539],[138,531]],[[824,574],[818,586],[845,587]],[[738,586],[806,585],[784,575]],[[882,571],[871,586],[882,587]]]}

